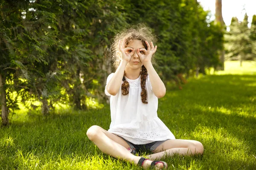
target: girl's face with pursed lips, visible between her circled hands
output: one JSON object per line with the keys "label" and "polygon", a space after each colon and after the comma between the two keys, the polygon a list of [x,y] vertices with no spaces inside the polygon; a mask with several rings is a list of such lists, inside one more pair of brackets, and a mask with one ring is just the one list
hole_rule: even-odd
{"label": "girl's face with pursed lips, visible between her circled hands", "polygon": [[[131,67],[133,69],[137,69],[137,68],[141,68],[141,66],[143,65],[143,63],[140,61],[140,57],[137,54],[137,49],[139,48],[145,48],[144,45],[142,44],[141,40],[132,40],[131,42],[129,42],[126,47],[130,47],[135,49],[135,53],[133,54],[133,56],[131,57],[130,62],[128,62],[127,66]],[[125,48],[126,48],[125,47]],[[128,51],[128,53],[131,51]],[[140,51],[140,53],[143,53],[143,51]]]}

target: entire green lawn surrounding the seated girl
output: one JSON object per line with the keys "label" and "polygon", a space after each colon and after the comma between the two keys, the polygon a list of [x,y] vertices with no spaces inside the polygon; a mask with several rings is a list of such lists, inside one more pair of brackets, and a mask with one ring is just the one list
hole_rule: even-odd
{"label": "entire green lawn surrounding the seated girl", "polygon": [[[204,145],[203,156],[163,159],[170,170],[256,169],[256,66],[225,66],[226,71],[189,79],[183,90],[167,87],[160,99],[158,116],[176,138]],[[91,125],[108,129],[109,124],[108,105],[49,117],[19,112],[9,127],[0,128],[0,169],[141,169],[102,154],[89,141],[86,131]]]}

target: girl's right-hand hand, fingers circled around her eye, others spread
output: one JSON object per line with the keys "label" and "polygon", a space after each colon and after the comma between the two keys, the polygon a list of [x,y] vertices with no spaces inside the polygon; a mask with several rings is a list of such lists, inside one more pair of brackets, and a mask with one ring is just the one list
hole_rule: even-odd
{"label": "girl's right-hand hand, fingers circled around her eye, others spread", "polygon": [[146,50],[145,48],[138,48],[136,51],[138,56],[140,57],[140,61],[143,63],[144,66],[148,62],[151,62],[152,55],[157,51],[157,45],[154,47],[153,42],[150,42],[150,44],[147,41],[145,42],[148,46],[148,50]]}

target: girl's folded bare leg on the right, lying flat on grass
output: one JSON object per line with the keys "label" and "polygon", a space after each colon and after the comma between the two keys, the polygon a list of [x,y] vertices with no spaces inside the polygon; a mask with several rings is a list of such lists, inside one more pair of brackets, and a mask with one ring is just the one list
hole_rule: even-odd
{"label": "girl's folded bare leg on the right, lying flat on grass", "polygon": [[163,142],[155,150],[154,154],[148,155],[150,159],[160,159],[163,156],[203,154],[204,147],[201,142],[194,140],[173,139]]}

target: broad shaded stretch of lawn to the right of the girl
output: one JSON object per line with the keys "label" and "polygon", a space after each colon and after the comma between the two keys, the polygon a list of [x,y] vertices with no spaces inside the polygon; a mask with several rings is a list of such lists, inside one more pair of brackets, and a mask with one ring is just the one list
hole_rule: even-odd
{"label": "broad shaded stretch of lawn to the right of the girl", "polygon": [[253,129],[256,125],[256,75],[194,79],[182,91],[170,91],[165,97],[168,100],[162,101],[159,111],[175,116],[174,121],[216,127],[229,127],[233,122]]}

